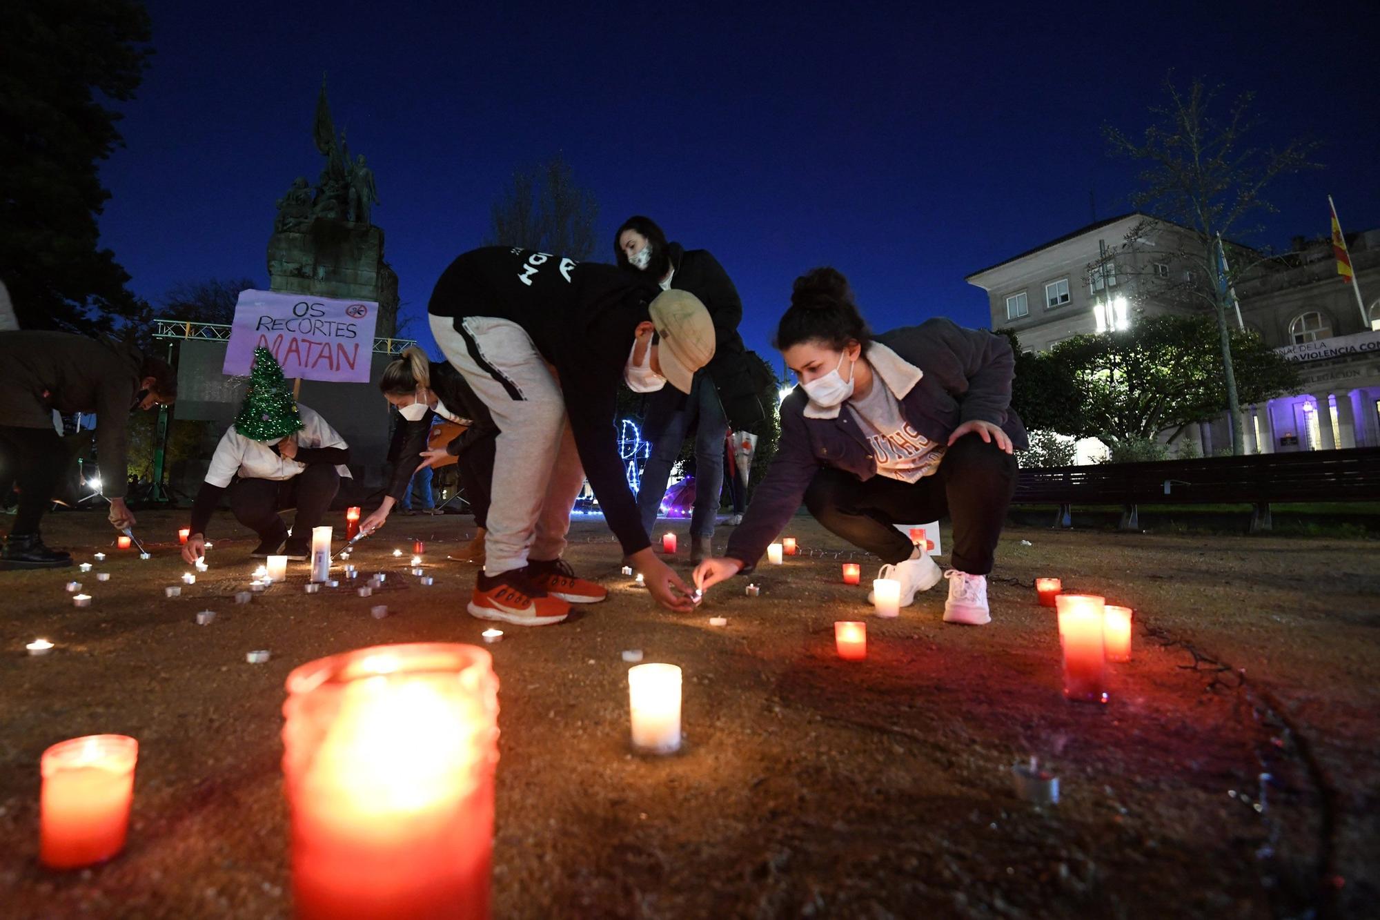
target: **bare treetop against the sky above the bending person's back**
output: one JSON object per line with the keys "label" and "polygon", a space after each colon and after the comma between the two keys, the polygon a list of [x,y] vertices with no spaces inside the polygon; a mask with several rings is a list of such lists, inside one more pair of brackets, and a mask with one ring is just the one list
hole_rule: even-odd
{"label": "bare treetop against the sky above the bending person's back", "polygon": [[512,185],[491,213],[484,239],[490,246],[522,246],[571,258],[589,258],[595,251],[599,203],[593,192],[575,184],[559,153],[542,166],[513,173]]}

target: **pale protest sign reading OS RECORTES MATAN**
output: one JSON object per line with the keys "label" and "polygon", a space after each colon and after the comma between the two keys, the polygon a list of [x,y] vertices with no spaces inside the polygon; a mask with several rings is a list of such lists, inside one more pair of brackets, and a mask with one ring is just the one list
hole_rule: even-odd
{"label": "pale protest sign reading OS RECORTES MATAN", "polygon": [[224,373],[244,376],[264,345],[287,378],[368,383],[378,304],[241,290]]}

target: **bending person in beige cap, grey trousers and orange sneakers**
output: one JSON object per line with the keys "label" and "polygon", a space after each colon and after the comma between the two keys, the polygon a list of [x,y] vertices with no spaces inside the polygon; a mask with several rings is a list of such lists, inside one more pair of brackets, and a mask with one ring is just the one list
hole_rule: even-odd
{"label": "bending person in beige cap, grey trousers and orange sneakers", "polygon": [[669,609],[693,609],[684,582],[651,551],[614,416],[624,383],[640,392],[667,381],[690,391],[694,372],[713,356],[704,304],[615,265],[490,246],[450,264],[428,312],[436,344],[498,427],[471,615],[544,626],[566,619],[570,602],[606,597],[560,558],[586,474],[651,595]]}

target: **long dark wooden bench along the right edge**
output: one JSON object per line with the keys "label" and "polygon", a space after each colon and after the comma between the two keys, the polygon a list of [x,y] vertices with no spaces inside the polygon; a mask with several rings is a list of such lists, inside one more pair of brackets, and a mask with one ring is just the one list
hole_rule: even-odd
{"label": "long dark wooden bench along the right edge", "polygon": [[1075,504],[1122,506],[1121,528],[1138,530],[1141,504],[1250,504],[1250,532],[1271,528],[1272,501],[1380,500],[1380,448],[1259,453],[1245,457],[1036,467],[1020,471],[1012,504],[1057,504],[1054,526],[1072,526]]}

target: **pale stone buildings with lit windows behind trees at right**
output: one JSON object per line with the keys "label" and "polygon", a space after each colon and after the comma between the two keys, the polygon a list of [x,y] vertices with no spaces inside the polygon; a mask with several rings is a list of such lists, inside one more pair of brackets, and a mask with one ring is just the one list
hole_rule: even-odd
{"label": "pale stone buildings with lit windows behind trees at right", "polygon": [[[1190,294],[1212,278],[1191,256],[1195,246],[1187,228],[1130,213],[966,280],[987,291],[992,329],[1014,332],[1027,351],[1046,351],[1072,336],[1123,329],[1137,316],[1202,312],[1208,301]],[[1304,384],[1243,406],[1249,453],[1380,446],[1380,231],[1357,233],[1348,246],[1363,312],[1337,274],[1328,239],[1297,238],[1293,251],[1261,261],[1235,285],[1242,325],[1297,361]],[[1205,456],[1231,446],[1225,416],[1190,437]]]}

